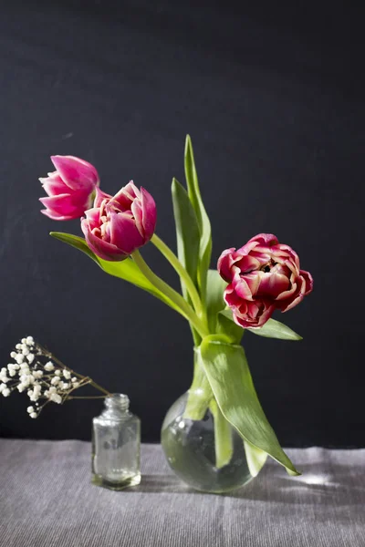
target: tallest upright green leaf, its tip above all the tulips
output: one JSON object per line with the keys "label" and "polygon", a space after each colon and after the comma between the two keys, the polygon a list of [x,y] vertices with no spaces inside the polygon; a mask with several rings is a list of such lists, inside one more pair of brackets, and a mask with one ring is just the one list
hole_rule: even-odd
{"label": "tallest upright green leaf, its tip above all the tulips", "polygon": [[200,232],[198,283],[203,302],[205,301],[206,276],[211,263],[212,255],[212,231],[211,223],[203,206],[203,200],[199,189],[198,175],[196,173],[193,158],[193,145],[190,136],[185,141],[185,177],[188,187],[188,195],[193,204]]}

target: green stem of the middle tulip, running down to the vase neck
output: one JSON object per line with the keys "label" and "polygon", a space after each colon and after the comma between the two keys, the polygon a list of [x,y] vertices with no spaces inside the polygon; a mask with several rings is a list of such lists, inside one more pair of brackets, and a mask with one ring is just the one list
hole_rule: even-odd
{"label": "green stem of the middle tulip, running down to the vase neck", "polygon": [[161,277],[152,272],[150,266],[143,260],[141,253],[138,250],[134,251],[131,253],[131,257],[140,268],[141,273],[147,277],[151,284],[163,294],[166,294],[166,296],[176,304],[179,313],[193,325],[199,335],[201,335],[202,338],[208,335],[209,331],[207,327],[203,324],[202,319],[194,313],[192,306],[185,302],[181,294],[177,293],[169,284],[165,283]]}

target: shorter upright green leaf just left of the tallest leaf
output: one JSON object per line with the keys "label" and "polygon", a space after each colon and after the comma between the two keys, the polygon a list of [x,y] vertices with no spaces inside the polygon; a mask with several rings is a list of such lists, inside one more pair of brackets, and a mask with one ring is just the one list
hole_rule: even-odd
{"label": "shorter upright green leaf just left of the tallest leaf", "polygon": [[[197,286],[199,227],[188,193],[176,179],[172,179],[172,205],[176,227],[177,254],[183,267]],[[188,300],[183,281],[182,288],[184,298]]]}

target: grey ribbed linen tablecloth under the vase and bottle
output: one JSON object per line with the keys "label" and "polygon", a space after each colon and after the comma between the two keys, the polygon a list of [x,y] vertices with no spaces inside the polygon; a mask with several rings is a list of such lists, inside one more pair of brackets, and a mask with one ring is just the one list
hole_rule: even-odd
{"label": "grey ribbed linen tablecloth under the vase and bottle", "polygon": [[289,449],[304,475],[270,460],[229,495],[189,490],[158,445],[142,482],[90,484],[87,442],[0,439],[1,547],[364,547],[365,449]]}

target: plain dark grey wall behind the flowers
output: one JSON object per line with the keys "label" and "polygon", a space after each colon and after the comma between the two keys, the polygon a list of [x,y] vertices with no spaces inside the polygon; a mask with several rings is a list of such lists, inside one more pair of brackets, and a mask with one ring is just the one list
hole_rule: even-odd
{"label": "plain dark grey wall behind the flowers", "polygon": [[[255,386],[287,446],[364,446],[364,74],[360,14],[333,4],[0,2],[0,361],[34,335],[68,366],[130,395],[157,441],[189,387],[188,325],[52,240],[78,222],[39,213],[51,154],[130,179],[174,247],[170,184],[193,137],[213,262],[257,232],[293,246],[315,292],[277,316],[301,343],[245,336]],[[153,268],[178,287],[148,246]],[[99,402],[0,399],[0,435],[89,439]]]}

